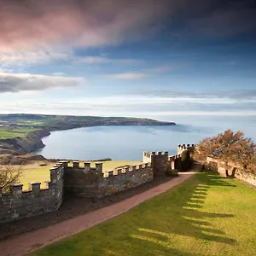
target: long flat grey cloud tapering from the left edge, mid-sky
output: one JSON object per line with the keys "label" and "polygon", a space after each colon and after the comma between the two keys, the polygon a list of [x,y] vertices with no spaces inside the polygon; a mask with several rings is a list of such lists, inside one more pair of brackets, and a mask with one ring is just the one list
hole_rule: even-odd
{"label": "long flat grey cloud tapering from the left edge, mid-sky", "polygon": [[46,76],[31,73],[0,73],[0,93],[72,87],[82,82],[82,78],[73,77]]}

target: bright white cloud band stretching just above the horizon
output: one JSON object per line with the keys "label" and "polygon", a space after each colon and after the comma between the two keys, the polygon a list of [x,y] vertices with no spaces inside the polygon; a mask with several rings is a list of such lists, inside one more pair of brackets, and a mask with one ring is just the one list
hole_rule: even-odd
{"label": "bright white cloud band stretching just above the horizon", "polygon": [[[164,117],[183,115],[256,116],[256,101],[237,105],[236,101],[216,99],[148,98],[147,96],[102,96],[76,99],[38,100],[36,96],[24,100],[24,91],[14,94],[12,101],[1,101],[2,113],[61,113],[104,116]],[[86,102],[86,104],[84,104]]]}

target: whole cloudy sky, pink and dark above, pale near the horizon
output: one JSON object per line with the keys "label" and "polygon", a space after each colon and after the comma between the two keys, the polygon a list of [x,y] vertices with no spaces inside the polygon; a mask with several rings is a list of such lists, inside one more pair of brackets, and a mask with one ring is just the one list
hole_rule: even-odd
{"label": "whole cloudy sky, pink and dark above, pale near the horizon", "polygon": [[0,0],[0,113],[256,116],[256,2]]}

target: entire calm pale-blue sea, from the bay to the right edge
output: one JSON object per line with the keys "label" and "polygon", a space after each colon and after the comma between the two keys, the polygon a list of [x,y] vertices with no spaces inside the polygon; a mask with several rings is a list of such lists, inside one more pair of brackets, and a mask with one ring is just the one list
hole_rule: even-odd
{"label": "entire calm pale-blue sea, from the bay to the right edge", "polygon": [[178,144],[196,144],[227,129],[244,131],[246,137],[256,142],[254,119],[189,117],[179,119],[173,126],[95,126],[52,131],[43,138],[45,147],[35,153],[49,159],[143,160],[144,151],[177,154]]}

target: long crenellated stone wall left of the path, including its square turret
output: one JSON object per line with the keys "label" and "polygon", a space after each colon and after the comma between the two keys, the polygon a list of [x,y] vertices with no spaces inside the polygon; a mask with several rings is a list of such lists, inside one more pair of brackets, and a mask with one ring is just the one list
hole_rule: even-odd
{"label": "long crenellated stone wall left of the path, including its square turret", "polygon": [[95,198],[135,188],[177,169],[179,163],[180,154],[168,156],[167,151],[144,152],[142,164],[108,172],[103,172],[102,163],[91,167],[90,162],[81,166],[79,161],[71,165],[61,161],[49,170],[48,189],[40,189],[41,183],[31,183],[30,191],[22,191],[23,185],[16,184],[9,195],[3,195],[0,188],[0,223],[55,211],[64,195]]}

